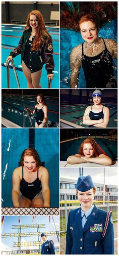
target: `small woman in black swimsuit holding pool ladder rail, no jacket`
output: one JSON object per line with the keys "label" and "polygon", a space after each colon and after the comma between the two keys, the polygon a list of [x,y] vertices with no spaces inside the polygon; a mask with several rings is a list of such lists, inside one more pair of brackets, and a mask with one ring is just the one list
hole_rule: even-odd
{"label": "small woman in black swimsuit holding pool ladder rail, no jacket", "polygon": [[47,119],[48,119],[48,107],[45,102],[45,98],[43,94],[37,95],[37,105],[35,105],[35,108],[33,111],[31,111],[29,108],[25,108],[25,110],[28,110],[32,115],[36,113],[36,122],[35,127],[36,128],[42,128],[46,125]]}

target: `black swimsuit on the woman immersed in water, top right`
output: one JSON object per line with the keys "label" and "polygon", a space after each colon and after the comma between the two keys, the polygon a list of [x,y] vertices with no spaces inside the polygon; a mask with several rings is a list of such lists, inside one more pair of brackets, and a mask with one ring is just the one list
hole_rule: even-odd
{"label": "black swimsuit on the woman immersed in water, top right", "polygon": [[117,83],[113,75],[113,58],[107,50],[104,39],[102,38],[105,50],[94,57],[84,54],[82,44],[82,67],[85,74],[86,88],[106,88],[108,82],[110,87],[117,88]]}

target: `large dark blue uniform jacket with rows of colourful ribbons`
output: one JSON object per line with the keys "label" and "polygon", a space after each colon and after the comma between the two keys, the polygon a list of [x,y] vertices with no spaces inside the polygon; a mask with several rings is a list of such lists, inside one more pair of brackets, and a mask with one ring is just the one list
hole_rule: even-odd
{"label": "large dark blue uniform jacket with rows of colourful ribbons", "polygon": [[[102,239],[106,215],[107,211],[94,205],[82,230],[81,208],[71,210],[68,218],[66,254],[114,254],[112,216]],[[99,228],[98,232],[96,225]]]}

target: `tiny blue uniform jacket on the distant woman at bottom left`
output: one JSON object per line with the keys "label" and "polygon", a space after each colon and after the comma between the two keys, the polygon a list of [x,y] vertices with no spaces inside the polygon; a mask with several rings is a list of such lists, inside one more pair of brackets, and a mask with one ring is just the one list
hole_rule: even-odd
{"label": "tiny blue uniform jacket on the distant woman at bottom left", "polygon": [[55,254],[54,243],[47,240],[41,245],[41,254]]}

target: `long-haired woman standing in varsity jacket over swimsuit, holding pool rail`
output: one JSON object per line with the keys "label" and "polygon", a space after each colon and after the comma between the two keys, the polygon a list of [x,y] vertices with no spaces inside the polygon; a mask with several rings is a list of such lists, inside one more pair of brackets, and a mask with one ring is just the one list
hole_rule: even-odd
{"label": "long-haired woman standing in varsity jacket over swimsuit, holding pool rail", "polygon": [[23,35],[6,62],[21,54],[22,69],[28,82],[28,88],[40,88],[42,67],[45,63],[47,78],[53,78],[52,39],[45,28],[42,14],[38,10],[29,13]]}

